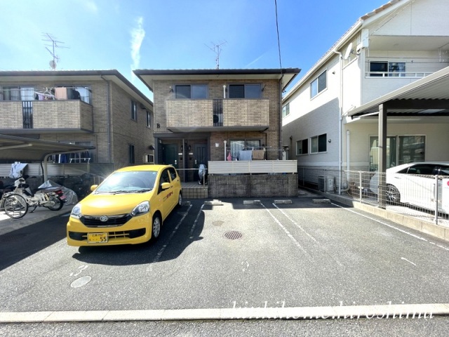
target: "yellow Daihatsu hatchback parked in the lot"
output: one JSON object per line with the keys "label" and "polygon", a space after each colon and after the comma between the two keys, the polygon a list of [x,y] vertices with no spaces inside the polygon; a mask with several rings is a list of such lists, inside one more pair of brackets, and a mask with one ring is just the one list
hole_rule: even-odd
{"label": "yellow Daihatsu hatchback parked in the lot", "polygon": [[140,244],[157,239],[163,220],[182,204],[180,177],[169,165],[125,167],[91,190],[70,213],[69,246]]}

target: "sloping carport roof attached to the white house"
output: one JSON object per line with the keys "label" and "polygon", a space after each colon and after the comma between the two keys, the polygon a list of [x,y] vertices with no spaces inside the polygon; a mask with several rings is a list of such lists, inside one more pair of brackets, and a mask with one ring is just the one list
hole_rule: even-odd
{"label": "sloping carport roof attached to the white house", "polygon": [[449,67],[414,81],[387,95],[372,100],[348,113],[349,117],[363,117],[379,112],[379,105],[387,108],[387,115],[397,117],[449,117]]}

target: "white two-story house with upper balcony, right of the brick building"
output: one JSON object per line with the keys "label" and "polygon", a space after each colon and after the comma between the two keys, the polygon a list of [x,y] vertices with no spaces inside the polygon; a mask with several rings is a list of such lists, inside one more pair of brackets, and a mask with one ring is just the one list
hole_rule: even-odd
{"label": "white two-story house with upper balcony, right of the brick building", "polygon": [[449,159],[448,17],[445,1],[393,0],[349,28],[283,98],[298,171]]}

